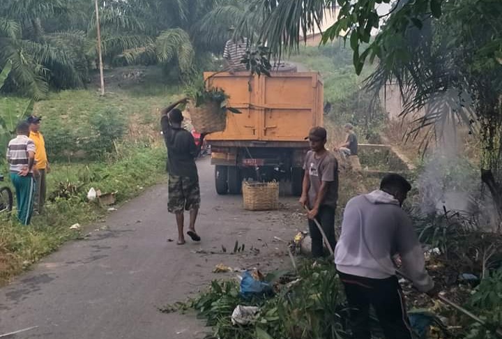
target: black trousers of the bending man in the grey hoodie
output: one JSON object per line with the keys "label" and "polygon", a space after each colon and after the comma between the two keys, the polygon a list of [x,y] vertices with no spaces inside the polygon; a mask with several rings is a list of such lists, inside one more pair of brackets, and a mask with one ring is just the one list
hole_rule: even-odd
{"label": "black trousers of the bending man in the grey hoodie", "polygon": [[411,339],[411,326],[396,277],[371,279],[338,273],[345,287],[354,339],[370,339],[370,306],[386,339]]}

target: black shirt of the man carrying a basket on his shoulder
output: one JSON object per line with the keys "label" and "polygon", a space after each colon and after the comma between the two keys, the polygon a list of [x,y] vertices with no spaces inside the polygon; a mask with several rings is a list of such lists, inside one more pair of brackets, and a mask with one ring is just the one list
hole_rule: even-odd
{"label": "black shirt of the man carrying a basket on his shoulder", "polygon": [[197,146],[192,133],[184,128],[174,128],[167,116],[160,119],[167,147],[167,171],[174,176],[197,178]]}

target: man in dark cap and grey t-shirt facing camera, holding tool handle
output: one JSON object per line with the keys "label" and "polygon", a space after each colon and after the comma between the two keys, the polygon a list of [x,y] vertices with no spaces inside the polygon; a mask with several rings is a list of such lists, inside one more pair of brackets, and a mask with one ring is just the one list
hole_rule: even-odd
{"label": "man in dark cap and grey t-shirt facing camera, holding tool handle", "polygon": [[300,204],[310,211],[309,231],[312,239],[312,256],[323,255],[323,237],[314,218],[317,218],[328,238],[331,248],[335,248],[335,211],[338,199],[338,163],[326,149],[327,133],[322,127],[310,130],[308,140],[310,151],[305,156],[305,175],[303,176]]}

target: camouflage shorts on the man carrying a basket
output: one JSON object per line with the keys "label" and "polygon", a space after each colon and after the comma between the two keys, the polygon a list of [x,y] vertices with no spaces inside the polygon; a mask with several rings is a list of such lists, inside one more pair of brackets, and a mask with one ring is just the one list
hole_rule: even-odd
{"label": "camouflage shorts on the man carrying a basket", "polygon": [[169,174],[169,202],[167,210],[179,213],[198,209],[200,206],[199,178]]}

